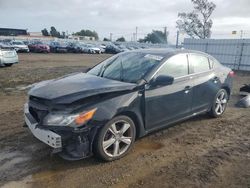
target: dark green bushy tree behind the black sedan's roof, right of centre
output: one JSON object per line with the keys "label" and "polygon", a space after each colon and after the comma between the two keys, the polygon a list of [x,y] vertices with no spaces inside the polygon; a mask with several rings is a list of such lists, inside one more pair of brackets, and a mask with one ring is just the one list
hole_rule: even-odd
{"label": "dark green bushy tree behind the black sedan's roof, right of centre", "polygon": [[153,30],[144,39],[139,39],[139,42],[167,43],[167,36],[168,32]]}

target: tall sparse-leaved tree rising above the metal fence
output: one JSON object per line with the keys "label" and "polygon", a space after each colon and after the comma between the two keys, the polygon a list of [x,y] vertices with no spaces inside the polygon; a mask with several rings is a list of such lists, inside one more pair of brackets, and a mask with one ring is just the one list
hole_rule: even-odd
{"label": "tall sparse-leaved tree rising above the metal fence", "polygon": [[179,13],[177,28],[190,37],[210,38],[213,21],[210,19],[216,5],[208,0],[191,0],[194,10],[190,13]]}

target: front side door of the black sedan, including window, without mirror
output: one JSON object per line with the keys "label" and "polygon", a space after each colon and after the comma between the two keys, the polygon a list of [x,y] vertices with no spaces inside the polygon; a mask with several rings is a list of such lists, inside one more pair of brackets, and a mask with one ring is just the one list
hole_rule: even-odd
{"label": "front side door of the black sedan, including window, without mirror", "polygon": [[147,130],[163,127],[191,114],[192,80],[188,75],[187,54],[171,57],[156,72],[174,77],[168,86],[146,86],[145,119]]}

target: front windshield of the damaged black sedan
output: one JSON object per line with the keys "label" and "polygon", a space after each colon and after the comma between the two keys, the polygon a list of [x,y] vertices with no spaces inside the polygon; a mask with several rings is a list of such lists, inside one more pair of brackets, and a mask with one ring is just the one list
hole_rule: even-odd
{"label": "front windshield of the damaged black sedan", "polygon": [[142,52],[123,53],[98,64],[88,71],[88,74],[136,83],[157,66],[162,59],[162,56]]}

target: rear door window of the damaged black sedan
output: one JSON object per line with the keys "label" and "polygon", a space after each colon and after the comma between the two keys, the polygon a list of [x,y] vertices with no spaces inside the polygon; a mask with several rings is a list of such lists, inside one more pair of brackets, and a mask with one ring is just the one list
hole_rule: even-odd
{"label": "rear door window of the damaged black sedan", "polygon": [[210,70],[208,58],[202,55],[190,54],[188,60],[192,65],[193,72],[205,72]]}

